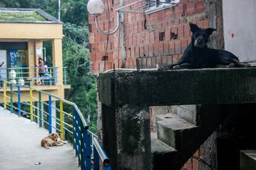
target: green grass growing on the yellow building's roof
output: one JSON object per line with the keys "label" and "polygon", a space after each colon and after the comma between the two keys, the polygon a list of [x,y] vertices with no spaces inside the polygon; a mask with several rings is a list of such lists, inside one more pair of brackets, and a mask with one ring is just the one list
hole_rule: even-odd
{"label": "green grass growing on the yellow building's roof", "polygon": [[0,21],[45,22],[46,18],[37,12],[10,12],[0,10]]}

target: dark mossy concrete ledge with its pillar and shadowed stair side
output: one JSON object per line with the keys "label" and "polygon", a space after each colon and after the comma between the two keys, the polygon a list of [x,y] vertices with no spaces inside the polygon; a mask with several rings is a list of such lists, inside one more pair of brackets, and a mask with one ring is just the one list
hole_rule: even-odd
{"label": "dark mossy concrete ledge with its pillar and shadowed stair side", "polygon": [[[98,83],[103,146],[114,169],[155,169],[163,162],[181,168],[222,123],[223,105],[256,102],[256,68],[108,71],[100,74]],[[153,153],[152,167],[148,107],[161,105],[198,105],[192,110],[200,110],[200,117],[179,115],[200,128],[176,131],[179,151]]]}

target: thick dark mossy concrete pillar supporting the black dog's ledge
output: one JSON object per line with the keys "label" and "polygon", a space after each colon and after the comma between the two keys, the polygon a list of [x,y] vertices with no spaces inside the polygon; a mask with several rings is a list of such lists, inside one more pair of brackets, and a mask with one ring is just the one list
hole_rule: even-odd
{"label": "thick dark mossy concrete pillar supporting the black dog's ledge", "polygon": [[102,105],[103,147],[113,169],[149,170],[150,117],[148,107]]}

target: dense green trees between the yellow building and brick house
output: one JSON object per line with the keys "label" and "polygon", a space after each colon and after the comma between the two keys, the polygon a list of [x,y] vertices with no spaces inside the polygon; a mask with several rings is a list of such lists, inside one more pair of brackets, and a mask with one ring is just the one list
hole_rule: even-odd
{"label": "dense green trees between the yellow building and brick house", "polygon": [[[57,0],[1,0],[0,7],[39,8],[58,18]],[[97,102],[96,78],[88,76],[90,68],[88,46],[87,0],[65,0],[61,2],[61,21],[64,22],[65,37],[62,40],[63,63],[67,67],[66,99],[75,102],[90,121],[90,131],[96,132]],[[46,47],[48,66],[51,66],[51,42]],[[72,110],[70,110],[72,111]]]}

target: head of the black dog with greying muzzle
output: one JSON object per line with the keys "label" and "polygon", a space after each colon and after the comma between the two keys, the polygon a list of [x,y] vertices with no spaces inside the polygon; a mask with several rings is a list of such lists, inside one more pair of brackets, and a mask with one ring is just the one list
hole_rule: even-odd
{"label": "head of the black dog with greying muzzle", "polygon": [[192,45],[198,48],[205,48],[207,47],[207,42],[210,35],[213,31],[216,31],[214,28],[198,28],[197,25],[193,23],[189,23],[190,30],[192,31]]}

